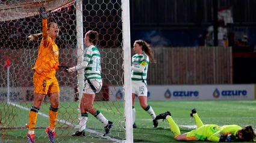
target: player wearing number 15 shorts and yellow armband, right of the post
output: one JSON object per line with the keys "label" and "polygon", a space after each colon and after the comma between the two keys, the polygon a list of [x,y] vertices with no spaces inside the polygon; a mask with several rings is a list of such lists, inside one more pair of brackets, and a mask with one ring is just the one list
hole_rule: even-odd
{"label": "player wearing number 15 shorts and yellow armband, right of the post", "polygon": [[153,119],[153,127],[158,126],[158,121],[155,120],[155,112],[151,106],[147,103],[148,88],[146,84],[146,74],[148,72],[149,59],[152,62],[156,62],[154,59],[154,52],[143,40],[136,40],[134,42],[133,50],[136,55],[133,56],[132,61],[132,73],[131,73],[131,82],[132,82],[132,96],[133,96],[133,127],[136,128],[135,124],[135,108],[134,108],[134,99],[135,95],[139,97],[140,106],[151,115]]}

